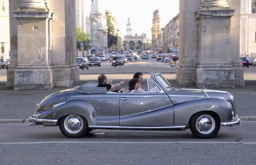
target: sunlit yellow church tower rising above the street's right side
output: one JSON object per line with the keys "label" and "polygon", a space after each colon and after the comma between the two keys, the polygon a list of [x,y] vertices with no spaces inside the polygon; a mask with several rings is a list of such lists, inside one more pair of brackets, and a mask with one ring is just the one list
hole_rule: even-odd
{"label": "sunlit yellow church tower rising above the street's right side", "polygon": [[157,36],[158,34],[161,33],[161,26],[160,26],[160,13],[158,11],[158,9],[156,11],[154,11],[154,15],[153,15],[153,26],[151,28],[151,32],[152,32],[152,48],[153,50],[155,50],[155,48],[157,47]]}

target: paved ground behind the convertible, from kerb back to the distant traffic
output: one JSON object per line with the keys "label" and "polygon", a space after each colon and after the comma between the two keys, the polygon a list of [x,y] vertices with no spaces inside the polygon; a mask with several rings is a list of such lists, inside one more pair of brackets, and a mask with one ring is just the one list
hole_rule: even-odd
{"label": "paved ground behind the convertible, from kerb back to the distant traffic", "polygon": [[[106,73],[107,76],[113,79],[113,82],[125,80],[125,84],[130,80],[133,73],[140,71],[144,73],[144,81],[149,77],[148,72],[163,73],[167,80],[177,88],[196,88],[195,86],[183,86],[175,81],[175,67],[170,67],[169,64],[156,62],[155,59],[150,59],[139,62],[128,62],[124,66],[110,66],[109,61],[102,62],[100,67],[90,67],[89,70],[80,70],[80,82],[72,85],[78,86],[86,82],[97,82],[100,73]],[[230,92],[236,99],[238,114],[243,120],[255,120],[256,109],[256,67],[252,66],[244,68],[245,87],[241,88],[226,88],[214,89]],[[27,119],[33,114],[36,104],[39,103],[45,96],[60,90],[68,89],[63,87],[55,87],[51,90],[20,90],[5,88],[6,70],[0,70],[0,123],[4,122],[27,122]],[[124,85],[124,88],[128,86]],[[146,83],[143,83],[143,88],[146,88]]]}

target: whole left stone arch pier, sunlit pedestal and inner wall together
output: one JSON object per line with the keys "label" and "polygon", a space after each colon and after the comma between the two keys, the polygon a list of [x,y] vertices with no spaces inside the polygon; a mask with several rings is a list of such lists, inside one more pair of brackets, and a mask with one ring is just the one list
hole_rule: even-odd
{"label": "whole left stone arch pier, sunlit pedestal and inner wall together", "polygon": [[18,7],[12,12],[11,67],[6,86],[14,90],[52,89],[78,82],[75,1],[10,2]]}

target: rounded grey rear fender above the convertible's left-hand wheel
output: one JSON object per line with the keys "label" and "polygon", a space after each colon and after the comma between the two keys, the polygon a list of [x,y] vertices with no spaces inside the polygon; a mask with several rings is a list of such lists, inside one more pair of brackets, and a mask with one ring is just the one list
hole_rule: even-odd
{"label": "rounded grey rear fender above the convertible's left-hand wheel", "polygon": [[87,119],[88,125],[96,124],[96,111],[89,102],[84,100],[67,101],[54,110],[43,112],[40,114],[40,118],[58,119],[59,121],[60,118],[69,114],[82,115]]}

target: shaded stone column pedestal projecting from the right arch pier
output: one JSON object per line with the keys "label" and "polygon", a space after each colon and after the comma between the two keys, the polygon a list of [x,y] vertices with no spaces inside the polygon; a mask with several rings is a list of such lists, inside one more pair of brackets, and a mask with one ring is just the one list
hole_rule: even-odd
{"label": "shaded stone column pedestal projecting from the right arch pier", "polygon": [[230,18],[234,10],[226,0],[203,0],[196,12],[198,21],[197,87],[234,87]]}

